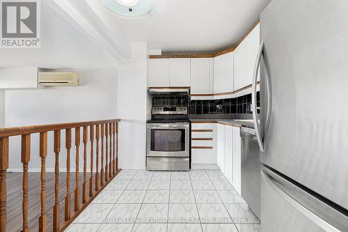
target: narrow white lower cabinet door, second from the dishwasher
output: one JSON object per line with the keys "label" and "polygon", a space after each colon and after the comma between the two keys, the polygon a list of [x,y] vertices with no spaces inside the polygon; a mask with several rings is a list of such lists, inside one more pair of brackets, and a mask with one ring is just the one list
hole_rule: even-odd
{"label": "narrow white lower cabinet door, second from the dishwasher", "polygon": [[232,182],[233,127],[225,126],[225,176]]}

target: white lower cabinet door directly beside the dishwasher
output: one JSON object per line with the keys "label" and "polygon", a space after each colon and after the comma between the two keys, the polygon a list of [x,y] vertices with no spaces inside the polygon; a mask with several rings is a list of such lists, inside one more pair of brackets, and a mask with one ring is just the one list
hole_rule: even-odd
{"label": "white lower cabinet door directly beside the dishwasher", "polygon": [[241,137],[240,128],[233,127],[233,173],[232,173],[232,186],[237,190],[239,194],[241,193]]}

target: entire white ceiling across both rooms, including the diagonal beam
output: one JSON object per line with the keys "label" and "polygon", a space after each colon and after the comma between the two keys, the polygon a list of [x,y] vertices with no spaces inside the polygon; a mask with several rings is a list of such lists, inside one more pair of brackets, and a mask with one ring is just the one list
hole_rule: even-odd
{"label": "entire white ceiling across both rooms, including the diagonal beam", "polygon": [[216,51],[242,38],[269,1],[157,0],[152,15],[129,20],[99,0],[45,0],[41,48],[0,49],[0,68],[113,68],[131,61],[132,42],[164,53]]}

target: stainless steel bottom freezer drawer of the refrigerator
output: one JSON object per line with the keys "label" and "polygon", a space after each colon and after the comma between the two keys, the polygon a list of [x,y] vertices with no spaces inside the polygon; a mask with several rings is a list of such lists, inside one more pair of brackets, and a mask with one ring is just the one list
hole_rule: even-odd
{"label": "stainless steel bottom freezer drawer of the refrigerator", "polygon": [[348,217],[267,167],[261,175],[261,230],[348,231]]}

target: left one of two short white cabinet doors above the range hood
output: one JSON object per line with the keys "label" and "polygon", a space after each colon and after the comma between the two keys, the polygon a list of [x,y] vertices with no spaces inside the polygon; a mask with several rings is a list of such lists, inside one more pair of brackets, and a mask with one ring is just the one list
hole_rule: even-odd
{"label": "left one of two short white cabinet doors above the range hood", "polygon": [[148,86],[168,87],[169,86],[169,60],[148,59]]}

